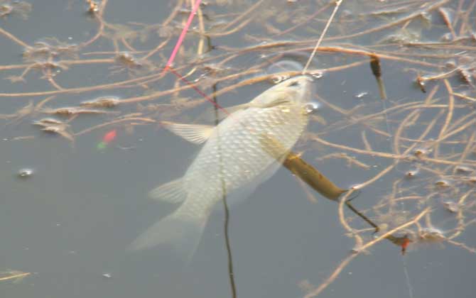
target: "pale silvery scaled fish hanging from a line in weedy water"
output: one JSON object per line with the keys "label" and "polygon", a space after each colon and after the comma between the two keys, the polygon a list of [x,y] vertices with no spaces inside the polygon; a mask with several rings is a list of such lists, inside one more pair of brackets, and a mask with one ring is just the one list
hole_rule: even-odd
{"label": "pale silvery scaled fish hanging from a line in weedy water", "polygon": [[[192,258],[214,206],[240,189],[254,189],[271,177],[308,124],[305,104],[313,96],[313,79],[293,77],[270,87],[247,104],[229,107],[216,126],[163,121],[169,131],[204,144],[183,177],[149,192],[152,199],[180,204],[129,245],[143,250],[172,245],[178,255]],[[269,153],[266,140],[280,144]]]}

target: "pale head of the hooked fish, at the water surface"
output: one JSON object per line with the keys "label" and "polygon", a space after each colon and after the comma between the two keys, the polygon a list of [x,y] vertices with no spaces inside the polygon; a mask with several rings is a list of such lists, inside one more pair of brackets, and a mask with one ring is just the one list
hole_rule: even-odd
{"label": "pale head of the hooked fish, at the water surface", "polygon": [[286,79],[256,96],[250,104],[268,108],[280,104],[306,104],[313,98],[313,79],[301,75]]}

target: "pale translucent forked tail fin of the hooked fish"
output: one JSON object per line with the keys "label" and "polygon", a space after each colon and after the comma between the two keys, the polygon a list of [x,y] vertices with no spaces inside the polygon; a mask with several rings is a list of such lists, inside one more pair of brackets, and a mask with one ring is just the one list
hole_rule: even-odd
{"label": "pale translucent forked tail fin of the hooked fish", "polygon": [[184,216],[181,208],[183,206],[154,223],[129,245],[129,249],[142,250],[163,244],[173,248],[180,257],[191,260],[198,248],[207,216]]}

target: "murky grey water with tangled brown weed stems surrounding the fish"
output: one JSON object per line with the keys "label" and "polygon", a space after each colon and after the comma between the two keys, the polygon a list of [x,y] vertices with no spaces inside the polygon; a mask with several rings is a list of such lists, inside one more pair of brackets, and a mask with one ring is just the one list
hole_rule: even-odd
{"label": "murky grey water with tangled brown weed stems surrounding the fish", "polygon": [[[180,12],[167,21],[175,10],[169,2],[108,1],[87,13],[85,1],[38,0],[31,7],[0,1],[1,14],[11,9],[0,18],[1,297],[232,297],[221,204],[189,263],[160,246],[126,250],[174,209],[148,199],[149,190],[183,175],[200,148],[158,121],[212,123],[204,116],[212,105],[195,90],[163,93],[188,86],[170,72],[160,77],[191,7],[177,1]],[[218,90],[222,106],[247,102],[289,75],[275,72],[299,71],[334,6],[305,21],[325,1],[276,2],[207,1],[175,70],[206,94]],[[418,225],[394,234],[413,237],[406,254],[383,239],[335,272],[353,255],[356,238],[342,224],[338,202],[283,167],[230,207],[238,297],[303,297],[332,272],[337,278],[320,297],[472,297],[476,48],[463,26],[474,24],[471,3],[343,1],[322,45],[327,50],[310,65],[318,109],[294,151],[346,189],[388,167],[352,201],[382,231],[372,236],[372,227],[348,209],[345,219],[364,244],[426,212]],[[369,13],[374,10],[380,13]],[[399,22],[418,11],[418,18]],[[451,31],[448,17],[455,35],[467,40],[440,41]],[[200,23],[210,38],[200,38]],[[409,36],[438,43],[408,46]],[[285,44],[272,45],[277,41]],[[371,53],[380,55],[385,101],[369,67]],[[449,74],[438,77],[443,73]],[[418,75],[436,76],[425,81],[426,93]],[[124,102],[79,107],[99,96]],[[72,106],[106,113],[54,114]],[[61,123],[33,125],[46,117]],[[438,183],[443,180],[448,187]],[[424,228],[438,228],[445,238],[431,241]],[[15,272],[31,274],[19,282],[6,278]]]}

